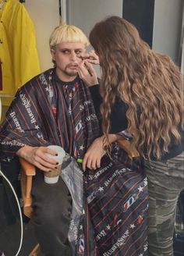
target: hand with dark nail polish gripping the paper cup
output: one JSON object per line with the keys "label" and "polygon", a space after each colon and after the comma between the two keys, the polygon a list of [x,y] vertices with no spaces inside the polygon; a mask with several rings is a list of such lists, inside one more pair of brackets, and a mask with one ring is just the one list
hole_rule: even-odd
{"label": "hand with dark nail polish gripping the paper cup", "polygon": [[57,152],[51,150],[47,147],[30,147],[25,146],[20,148],[16,155],[30,162],[30,164],[35,165],[38,169],[44,172],[48,172],[51,169],[57,168],[57,161],[55,159],[49,158],[47,154],[57,155]]}

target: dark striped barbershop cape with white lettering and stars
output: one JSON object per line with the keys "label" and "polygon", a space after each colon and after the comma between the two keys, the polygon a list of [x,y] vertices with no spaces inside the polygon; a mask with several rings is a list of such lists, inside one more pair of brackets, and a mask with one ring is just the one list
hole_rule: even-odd
{"label": "dark striped barbershop cape with white lettering and stars", "polygon": [[[83,158],[100,133],[83,81],[77,76],[72,83],[64,83],[55,69],[49,69],[21,87],[12,101],[2,123],[1,161],[11,162],[24,145],[49,144],[62,146],[73,158]],[[130,161],[114,144],[111,159],[104,156],[101,168],[87,170],[83,181],[86,214],[76,255],[147,255],[147,180],[140,159]]]}

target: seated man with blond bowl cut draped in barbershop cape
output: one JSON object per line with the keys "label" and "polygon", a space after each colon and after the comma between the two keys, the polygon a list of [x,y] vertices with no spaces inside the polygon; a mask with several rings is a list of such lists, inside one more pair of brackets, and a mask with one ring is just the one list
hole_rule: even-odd
{"label": "seated man with blond bowl cut draped in barbershop cape", "polygon": [[[88,44],[76,27],[62,25],[53,31],[50,48],[55,68],[34,77],[16,94],[2,125],[1,157],[11,161],[18,155],[37,166],[32,192],[34,225],[44,254],[146,256],[147,179],[140,158],[130,160],[113,143],[126,137],[125,124],[119,125],[116,118],[119,108],[112,111],[108,134],[111,157],[104,155],[105,140],[97,119],[101,98],[91,65],[98,59],[94,52],[85,53]],[[80,184],[73,179],[78,174],[74,168],[67,187],[61,178],[53,186],[44,183],[43,172],[57,166],[45,156],[56,153],[46,147],[50,144],[62,146],[74,159],[83,159],[86,171],[81,174],[80,169]],[[68,165],[62,167],[62,173],[69,172]],[[75,190],[69,192],[73,184],[76,190],[83,188],[83,207],[80,222],[72,229],[76,240],[69,243],[75,219],[71,211],[79,197]]]}

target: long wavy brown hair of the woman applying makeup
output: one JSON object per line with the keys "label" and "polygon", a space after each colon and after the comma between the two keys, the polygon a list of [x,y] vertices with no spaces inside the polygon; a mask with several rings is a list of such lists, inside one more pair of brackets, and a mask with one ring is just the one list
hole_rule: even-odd
{"label": "long wavy brown hair of the woman applying makeup", "polygon": [[118,16],[96,23],[89,38],[101,62],[106,140],[111,108],[118,96],[129,105],[128,130],[140,155],[161,158],[172,136],[175,143],[181,140],[178,128],[183,129],[184,123],[183,77],[179,67],[167,55],[151,50],[136,27]]}

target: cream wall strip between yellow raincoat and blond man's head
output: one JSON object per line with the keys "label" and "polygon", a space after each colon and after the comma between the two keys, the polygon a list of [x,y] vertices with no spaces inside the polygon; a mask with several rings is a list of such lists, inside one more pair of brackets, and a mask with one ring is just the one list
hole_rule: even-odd
{"label": "cream wall strip between yellow raincoat and blond man's head", "polygon": [[34,22],[41,71],[51,68],[48,39],[59,24],[58,0],[26,0],[25,7]]}

